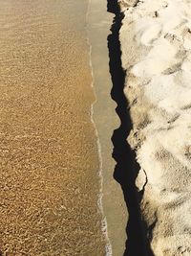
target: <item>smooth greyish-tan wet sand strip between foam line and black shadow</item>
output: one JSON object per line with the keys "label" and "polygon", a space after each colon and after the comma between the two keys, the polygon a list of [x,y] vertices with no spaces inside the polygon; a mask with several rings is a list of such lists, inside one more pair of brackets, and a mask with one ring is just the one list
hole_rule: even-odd
{"label": "smooth greyish-tan wet sand strip between foam line and black shadow", "polygon": [[[112,60],[109,58],[109,54],[115,56],[115,53],[108,49],[108,39],[110,44],[113,40],[110,29],[115,15],[107,10],[107,4],[108,9],[110,9],[109,4],[112,4],[110,1],[90,1],[88,35],[92,45],[91,59],[96,91],[93,118],[100,144],[102,206],[107,224],[108,255],[119,256],[123,255],[125,250],[127,237],[125,227],[128,213],[121,187],[114,178],[117,162],[113,156],[116,145],[112,138],[115,129],[120,126],[120,120],[116,112],[117,104],[111,97],[114,84],[112,74],[110,74],[109,65]],[[120,58],[120,56],[118,57]]]}

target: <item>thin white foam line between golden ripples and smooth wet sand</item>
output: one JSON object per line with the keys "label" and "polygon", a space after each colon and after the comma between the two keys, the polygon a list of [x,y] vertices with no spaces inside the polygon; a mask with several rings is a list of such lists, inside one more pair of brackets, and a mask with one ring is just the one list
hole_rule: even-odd
{"label": "thin white foam line between golden ripples and smooth wet sand", "polygon": [[[91,3],[92,1],[89,0],[89,3],[88,3],[88,10],[87,10],[87,13],[86,13],[86,22],[88,24],[88,16],[90,14],[90,8],[91,8]],[[90,68],[91,68],[91,75],[92,75],[92,83],[91,83],[91,87],[93,88],[93,92],[95,94],[95,98],[96,98],[96,90],[95,90],[95,79],[94,79],[94,70],[93,70],[93,63],[92,63],[92,45],[91,45],[91,42],[90,42],[90,39],[89,39],[89,36],[88,36],[88,25],[86,27],[86,30],[87,30],[87,42],[88,42],[88,46],[89,46],[89,59],[90,59]],[[108,237],[108,227],[107,227],[107,220],[106,220],[106,216],[104,214],[104,210],[103,210],[103,203],[102,203],[102,198],[103,198],[103,160],[102,160],[102,153],[101,153],[101,144],[100,144],[100,140],[99,140],[99,136],[98,136],[98,130],[96,128],[96,123],[95,123],[95,120],[94,120],[94,105],[96,104],[97,102],[97,98],[95,100],[95,102],[91,105],[91,111],[90,111],[90,114],[91,114],[91,122],[95,128],[95,133],[96,133],[96,144],[97,144],[97,152],[98,152],[98,160],[99,160],[99,170],[98,170],[98,175],[99,175],[99,180],[100,180],[100,189],[99,189],[99,194],[98,194],[98,199],[97,199],[97,206],[98,206],[98,209],[102,215],[102,221],[101,221],[101,230],[104,234],[104,237],[105,237],[105,241],[106,241],[106,245],[105,245],[105,255],[106,256],[112,256],[113,253],[112,253],[112,244],[110,242],[110,239]]]}

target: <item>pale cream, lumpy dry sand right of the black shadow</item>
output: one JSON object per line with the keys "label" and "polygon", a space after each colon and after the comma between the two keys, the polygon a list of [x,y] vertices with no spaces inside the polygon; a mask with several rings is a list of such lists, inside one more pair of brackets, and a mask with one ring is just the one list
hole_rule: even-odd
{"label": "pale cream, lumpy dry sand right of the black shadow", "polygon": [[154,255],[190,256],[191,2],[133,2],[120,42],[141,211]]}

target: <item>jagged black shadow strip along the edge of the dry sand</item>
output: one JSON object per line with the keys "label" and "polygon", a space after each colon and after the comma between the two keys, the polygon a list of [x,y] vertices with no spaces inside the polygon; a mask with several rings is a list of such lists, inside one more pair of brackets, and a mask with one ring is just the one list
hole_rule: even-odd
{"label": "jagged black shadow strip along the edge of the dry sand", "polygon": [[114,178],[120,184],[124,200],[129,213],[129,221],[126,226],[127,241],[123,256],[153,256],[144,232],[144,222],[141,218],[139,203],[142,198],[138,194],[136,179],[139,166],[135,151],[131,150],[127,143],[127,137],[133,128],[128,102],[124,95],[125,71],[121,65],[121,51],[119,42],[119,30],[123,13],[120,12],[117,0],[107,0],[108,12],[115,14],[111,27],[111,35],[108,36],[108,49],[110,58],[110,73],[113,81],[111,91],[112,99],[117,103],[117,115],[120,119],[120,127],[114,130],[112,142],[114,145],[113,157],[117,162]]}

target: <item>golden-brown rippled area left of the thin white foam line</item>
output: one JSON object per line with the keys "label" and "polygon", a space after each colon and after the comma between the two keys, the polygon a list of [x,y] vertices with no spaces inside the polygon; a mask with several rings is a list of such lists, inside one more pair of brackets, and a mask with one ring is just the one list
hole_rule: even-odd
{"label": "golden-brown rippled area left of the thin white foam line", "polygon": [[0,249],[104,255],[87,1],[0,0]]}

